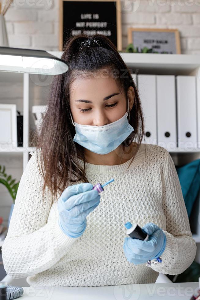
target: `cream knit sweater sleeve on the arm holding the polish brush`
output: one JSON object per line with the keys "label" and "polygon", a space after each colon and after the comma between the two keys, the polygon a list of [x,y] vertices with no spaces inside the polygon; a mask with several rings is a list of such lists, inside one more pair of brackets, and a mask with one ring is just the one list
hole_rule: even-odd
{"label": "cream knit sweater sleeve on the arm holding the polish brush", "polygon": [[28,161],[17,190],[8,233],[2,246],[6,273],[23,278],[47,270],[61,259],[77,238],[70,238],[58,225],[50,190],[42,197],[43,179],[36,154]]}

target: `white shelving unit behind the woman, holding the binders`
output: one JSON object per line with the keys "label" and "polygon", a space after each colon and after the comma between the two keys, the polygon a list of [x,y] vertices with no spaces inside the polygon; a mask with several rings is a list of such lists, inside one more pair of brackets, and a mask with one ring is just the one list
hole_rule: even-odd
{"label": "white shelving unit behind the woman, holding the binders", "polygon": [[[48,51],[50,54],[61,58],[62,51]],[[124,53],[121,52],[120,55],[124,59],[128,68],[131,69],[131,73],[140,74],[174,74],[174,75],[198,75],[200,68],[200,55],[190,55],[190,54],[145,54],[145,53]],[[18,75],[18,74],[17,74]],[[30,105],[30,77],[34,77],[32,74],[22,74],[23,75],[23,143],[27,145],[26,147],[17,147],[16,149],[2,149],[0,147],[0,153],[23,153],[23,170],[28,163],[28,152],[34,150],[34,148],[29,147],[29,105]],[[0,81],[14,82],[16,80],[15,73],[0,72]],[[51,77],[51,76],[49,76]],[[52,77],[51,77],[52,78]],[[191,149],[167,149],[171,153],[197,153],[200,154],[200,148]]]}

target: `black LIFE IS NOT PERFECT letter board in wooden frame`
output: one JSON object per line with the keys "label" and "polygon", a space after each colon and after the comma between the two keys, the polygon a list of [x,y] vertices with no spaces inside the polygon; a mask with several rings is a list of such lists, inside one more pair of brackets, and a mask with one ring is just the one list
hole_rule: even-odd
{"label": "black LIFE IS NOT PERFECT letter board in wooden frame", "polygon": [[59,51],[71,36],[107,36],[122,51],[120,0],[60,0]]}

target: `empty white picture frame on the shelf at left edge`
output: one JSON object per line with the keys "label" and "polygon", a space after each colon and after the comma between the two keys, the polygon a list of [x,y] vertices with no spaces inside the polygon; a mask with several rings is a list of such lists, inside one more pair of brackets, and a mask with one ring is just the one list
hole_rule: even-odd
{"label": "empty white picture frame on the shelf at left edge", "polygon": [[0,147],[17,148],[17,105],[0,104]]}

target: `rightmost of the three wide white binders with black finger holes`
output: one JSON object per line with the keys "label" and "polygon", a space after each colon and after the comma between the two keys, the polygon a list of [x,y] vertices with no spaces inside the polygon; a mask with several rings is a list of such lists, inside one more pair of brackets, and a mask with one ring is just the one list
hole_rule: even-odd
{"label": "rightmost of the three wide white binders with black finger holes", "polygon": [[197,147],[197,107],[195,76],[176,76],[178,147]]}

